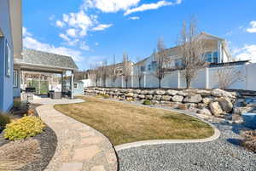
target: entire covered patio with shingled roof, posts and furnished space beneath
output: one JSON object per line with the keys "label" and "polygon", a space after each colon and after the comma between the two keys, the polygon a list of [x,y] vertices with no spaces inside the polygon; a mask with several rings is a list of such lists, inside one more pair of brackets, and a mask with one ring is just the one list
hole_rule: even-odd
{"label": "entire covered patio with shingled roof, posts and furnished space beneath", "polygon": [[[24,94],[33,94],[33,97],[44,94],[52,99],[73,99],[74,71],[77,70],[70,56],[24,49],[23,58],[15,59],[14,96],[23,99]],[[57,89],[53,88],[53,82],[59,84]]]}

